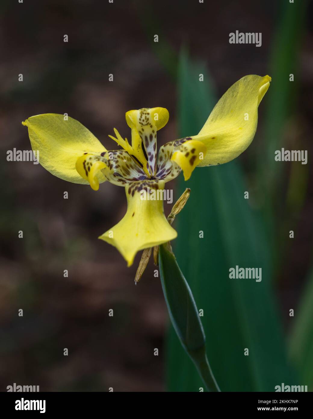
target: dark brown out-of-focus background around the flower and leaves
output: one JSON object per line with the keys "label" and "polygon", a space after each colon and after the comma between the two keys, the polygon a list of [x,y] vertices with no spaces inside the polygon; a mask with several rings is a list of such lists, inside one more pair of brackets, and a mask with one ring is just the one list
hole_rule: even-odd
{"label": "dark brown out-of-focus background around the flower and leaves", "polygon": [[[130,138],[126,111],[163,106],[170,119],[158,134],[158,144],[178,138],[177,62],[182,46],[190,59],[202,62],[208,70],[217,98],[247,74],[271,75],[267,96],[272,91],[275,94],[272,86],[280,85],[279,72],[275,79],[271,70],[281,52],[275,48],[284,44],[279,35],[283,33],[284,3],[289,2],[1,2],[1,391],[13,383],[39,385],[40,391],[166,389],[164,336],[168,320],[154,265],[150,262],[135,286],[140,255],[127,268],[115,248],[97,239],[123,217],[123,188],[106,182],[95,192],[90,186],[62,181],[40,165],[7,162],[7,150],[31,148],[21,122],[36,114],[66,112],[107,149],[115,149],[108,138],[113,127]],[[283,261],[277,262],[275,281],[286,331],[288,309],[297,304],[305,287],[313,239],[313,189],[309,183],[312,3],[307,2],[303,10],[299,20],[290,23],[290,31],[299,25],[293,38],[297,90],[289,99],[290,107],[298,111],[291,116],[288,111],[284,135],[287,140],[289,135],[291,143],[298,138],[302,144],[290,149],[308,150],[308,165],[301,167],[300,181],[295,178],[292,190],[300,197],[296,194],[297,199],[291,199],[290,208],[297,211],[297,235]],[[229,44],[229,33],[237,29],[262,32],[262,47]],[[67,43],[64,34],[68,35]],[[159,43],[153,42],[154,34],[158,34]],[[291,42],[285,39],[285,44]],[[290,68],[285,71],[293,72]],[[20,73],[23,82],[18,81]],[[108,81],[110,73],[113,82]],[[283,86],[276,94],[284,98]],[[262,142],[268,139],[264,103],[265,99],[258,126],[263,135],[240,158],[252,184],[255,161]],[[279,114],[279,109],[274,104],[269,112]],[[289,168],[284,166],[280,175],[280,191],[288,188]],[[254,186],[262,189],[257,182]],[[69,199],[63,199],[64,191]],[[262,201],[262,194],[259,197]],[[165,204],[167,214],[171,207]],[[279,205],[276,209],[280,211]],[[19,230],[23,230],[22,239],[18,238]],[[68,278],[63,276],[64,269]],[[20,308],[23,317],[18,316]],[[109,309],[114,310],[113,317],[108,316]],[[63,355],[64,348],[68,348],[68,356]],[[159,348],[159,356],[154,356],[154,348]]]}

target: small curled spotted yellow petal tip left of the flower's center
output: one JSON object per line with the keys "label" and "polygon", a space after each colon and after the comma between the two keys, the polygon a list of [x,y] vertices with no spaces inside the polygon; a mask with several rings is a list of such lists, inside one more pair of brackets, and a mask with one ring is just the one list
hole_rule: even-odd
{"label": "small curled spotted yellow petal tip left of the flower's center", "polygon": [[99,180],[97,176],[100,175],[100,171],[104,169],[109,171],[108,166],[100,160],[100,156],[92,154],[84,154],[79,157],[75,166],[80,176],[90,183],[90,186],[94,191],[99,189]]}

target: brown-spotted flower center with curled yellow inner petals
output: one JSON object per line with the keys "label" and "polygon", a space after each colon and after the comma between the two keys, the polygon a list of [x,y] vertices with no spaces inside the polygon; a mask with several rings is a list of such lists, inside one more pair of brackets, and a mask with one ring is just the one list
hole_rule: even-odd
{"label": "brown-spotted flower center with curled yellow inner petals", "polygon": [[123,150],[101,153],[86,151],[77,160],[78,173],[89,181],[92,189],[99,188],[97,175],[119,186],[150,180],[167,182],[178,176],[181,170],[187,179],[199,162],[199,152],[203,154],[206,151],[202,143],[192,140],[192,137],[185,137],[163,145],[157,155],[156,132],[167,122],[164,108],[129,111],[126,121],[131,128],[131,144],[114,128],[116,137],[109,137]]}

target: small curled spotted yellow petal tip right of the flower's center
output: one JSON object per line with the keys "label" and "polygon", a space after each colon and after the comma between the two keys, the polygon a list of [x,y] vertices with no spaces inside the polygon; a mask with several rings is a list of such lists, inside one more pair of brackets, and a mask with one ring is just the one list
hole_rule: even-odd
{"label": "small curled spotted yellow petal tip right of the flower's center", "polygon": [[180,166],[187,181],[195,167],[203,161],[205,154],[206,147],[203,142],[188,140],[180,145],[177,151],[174,151],[171,160]]}

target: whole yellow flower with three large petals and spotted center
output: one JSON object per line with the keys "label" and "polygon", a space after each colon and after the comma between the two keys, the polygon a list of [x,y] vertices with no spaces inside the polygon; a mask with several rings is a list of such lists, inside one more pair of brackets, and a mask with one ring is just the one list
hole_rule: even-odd
{"label": "whole yellow flower with three large petals and spotted center", "polygon": [[[90,184],[95,191],[106,180],[125,187],[126,215],[99,238],[115,246],[130,266],[139,250],[177,236],[164,216],[165,183],[180,171],[187,180],[195,167],[227,163],[246,150],[256,132],[257,109],[270,81],[269,76],[241,78],[218,101],[198,135],[167,142],[158,155],[156,132],[169,119],[164,108],[128,111],[131,144],[114,129],[116,137],[109,137],[122,149],[113,151],[106,150],[70,117],[42,114],[22,124],[28,127],[33,150],[39,150],[39,163],[53,175]],[[153,194],[159,199],[152,199]]]}

